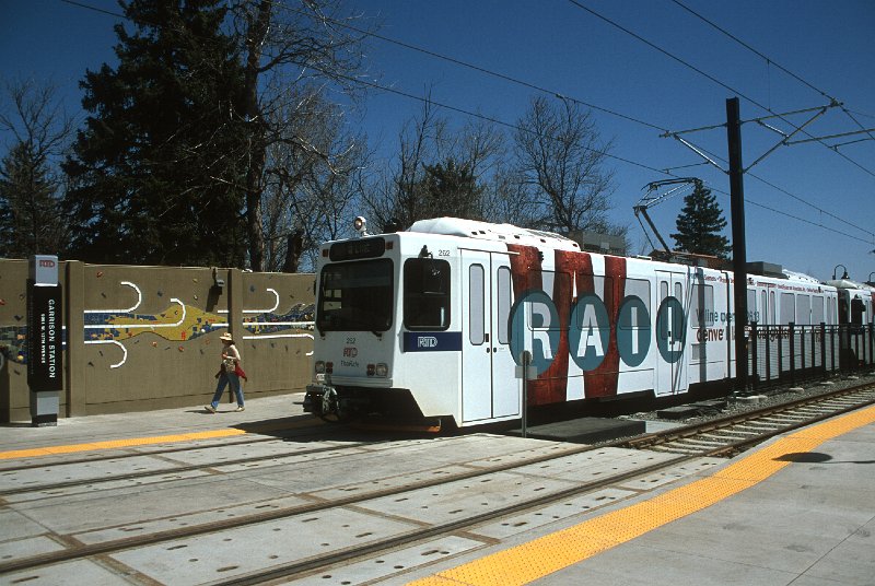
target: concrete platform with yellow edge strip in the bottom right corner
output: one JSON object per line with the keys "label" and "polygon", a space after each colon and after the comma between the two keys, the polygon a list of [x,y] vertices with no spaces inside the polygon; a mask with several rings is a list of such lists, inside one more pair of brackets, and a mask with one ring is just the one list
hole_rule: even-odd
{"label": "concrete platform with yellow edge strip in the bottom right corner", "polygon": [[415,586],[875,585],[875,408]]}

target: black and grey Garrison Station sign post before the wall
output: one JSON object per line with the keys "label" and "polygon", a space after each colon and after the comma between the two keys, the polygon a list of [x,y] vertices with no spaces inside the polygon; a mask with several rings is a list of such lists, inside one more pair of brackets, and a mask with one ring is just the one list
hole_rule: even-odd
{"label": "black and grey Garrison Station sign post before the wall", "polygon": [[33,255],[27,279],[27,386],[31,423],[58,424],[63,389],[63,297],[58,283],[58,257]]}

